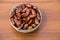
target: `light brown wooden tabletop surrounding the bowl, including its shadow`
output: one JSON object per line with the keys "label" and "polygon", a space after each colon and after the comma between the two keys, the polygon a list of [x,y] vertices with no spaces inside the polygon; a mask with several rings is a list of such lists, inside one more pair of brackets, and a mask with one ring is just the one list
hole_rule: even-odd
{"label": "light brown wooden tabletop surrounding the bowl, including its shadow", "polygon": [[[9,23],[9,13],[21,3],[32,3],[41,9],[39,29],[22,34]],[[0,0],[0,40],[60,40],[60,0]]]}

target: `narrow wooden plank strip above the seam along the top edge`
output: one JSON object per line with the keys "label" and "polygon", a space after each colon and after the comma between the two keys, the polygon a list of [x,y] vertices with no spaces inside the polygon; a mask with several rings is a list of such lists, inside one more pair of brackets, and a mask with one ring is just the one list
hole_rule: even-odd
{"label": "narrow wooden plank strip above the seam along the top edge", "polygon": [[7,3],[7,2],[8,2],[8,3],[9,3],[9,2],[11,2],[11,3],[12,3],[12,2],[14,2],[14,3],[15,3],[15,2],[16,2],[16,3],[17,3],[17,2],[19,2],[19,3],[20,3],[20,2],[26,2],[26,3],[29,3],[29,2],[60,2],[60,0],[18,0],[18,1],[17,1],[17,0],[9,0],[9,1],[8,1],[8,0],[0,0],[0,3],[4,3],[4,2],[5,2],[5,3]]}

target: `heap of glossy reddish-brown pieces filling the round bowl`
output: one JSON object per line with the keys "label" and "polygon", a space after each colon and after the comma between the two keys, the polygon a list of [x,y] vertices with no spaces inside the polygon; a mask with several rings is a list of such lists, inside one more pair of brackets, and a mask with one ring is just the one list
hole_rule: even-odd
{"label": "heap of glossy reddish-brown pieces filling the round bowl", "polygon": [[37,7],[31,4],[22,4],[11,12],[10,20],[19,30],[30,30],[40,23],[41,15]]}

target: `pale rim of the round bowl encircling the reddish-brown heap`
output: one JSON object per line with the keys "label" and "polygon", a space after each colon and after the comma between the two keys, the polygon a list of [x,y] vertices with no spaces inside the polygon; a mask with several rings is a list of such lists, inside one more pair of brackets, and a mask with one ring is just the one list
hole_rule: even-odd
{"label": "pale rim of the round bowl encircling the reddish-brown heap", "polygon": [[[24,3],[24,4],[25,4],[25,3]],[[30,4],[30,3],[29,3],[29,4]],[[13,7],[12,10],[10,11],[9,15],[11,15],[11,12],[13,12],[14,9],[16,9],[16,7],[17,7],[17,6],[20,6],[20,5],[22,5],[22,4],[19,4],[19,5],[16,5],[15,7]],[[32,5],[32,4],[31,4],[31,5]],[[33,6],[35,6],[35,5],[33,5]],[[42,13],[41,13],[41,10],[40,10],[38,7],[37,7],[37,9],[38,9],[39,14],[40,14],[40,16],[41,16],[41,19],[40,19],[40,23],[39,23],[35,28],[33,28],[33,29],[31,29],[31,30],[19,30],[19,29],[17,29],[17,28],[13,25],[13,23],[11,22],[10,17],[9,17],[9,22],[10,22],[11,26],[12,26],[16,31],[21,32],[21,33],[29,33],[29,32],[32,32],[32,31],[36,30],[36,29],[41,25],[41,23],[42,23]]]}

